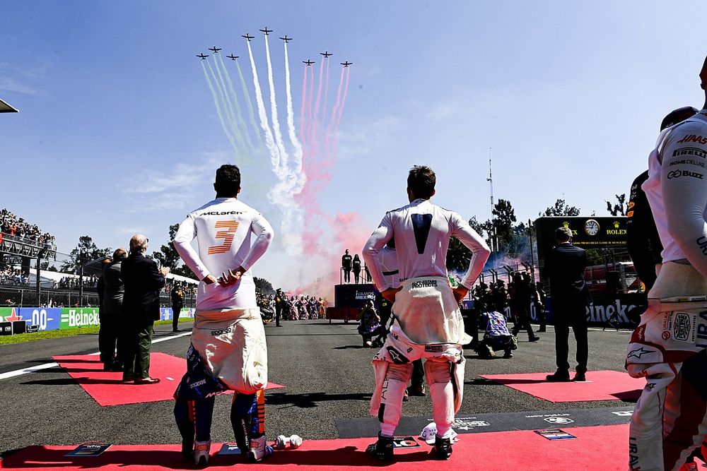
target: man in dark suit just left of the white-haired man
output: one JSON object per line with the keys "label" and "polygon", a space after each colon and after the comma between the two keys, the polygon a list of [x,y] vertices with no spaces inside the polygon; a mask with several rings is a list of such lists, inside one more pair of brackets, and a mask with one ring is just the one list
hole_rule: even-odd
{"label": "man in dark suit just left of the white-haired man", "polygon": [[101,277],[103,280],[103,301],[100,305],[98,345],[105,371],[122,371],[124,340],[119,333],[123,304],[123,278],[120,274],[120,265],[127,256],[128,253],[125,249],[116,249],[113,252],[112,260],[107,258],[108,263],[103,266],[103,276]]}

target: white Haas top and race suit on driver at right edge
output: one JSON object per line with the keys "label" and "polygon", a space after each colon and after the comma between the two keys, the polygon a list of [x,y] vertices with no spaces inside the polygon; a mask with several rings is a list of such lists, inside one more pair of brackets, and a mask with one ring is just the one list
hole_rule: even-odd
{"label": "white Haas top and race suit on driver at right edge", "polygon": [[631,470],[677,470],[707,433],[707,109],[660,133],[642,188],[663,265],[626,368],[646,386],[631,416]]}

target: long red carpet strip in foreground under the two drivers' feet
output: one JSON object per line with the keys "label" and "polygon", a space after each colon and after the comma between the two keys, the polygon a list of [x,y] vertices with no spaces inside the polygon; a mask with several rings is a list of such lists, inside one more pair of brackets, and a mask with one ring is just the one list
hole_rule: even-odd
{"label": "long red carpet strip in foreground under the two drivers' feet", "polygon": [[[375,439],[307,440],[296,450],[276,451],[254,465],[238,455],[215,455],[221,443],[211,446],[209,470],[583,470],[624,471],[628,463],[627,424],[605,427],[575,427],[564,431],[576,439],[551,441],[530,430],[463,434],[454,445],[450,460],[433,460],[431,447],[395,451],[392,463],[370,458],[364,450]],[[519,448],[520,446],[520,448]],[[32,468],[94,470],[193,469],[183,460],[179,445],[115,445],[95,458],[66,458],[76,446],[30,446],[0,462],[2,469]],[[520,451],[519,451],[520,450]],[[288,466],[289,465],[289,466]]]}

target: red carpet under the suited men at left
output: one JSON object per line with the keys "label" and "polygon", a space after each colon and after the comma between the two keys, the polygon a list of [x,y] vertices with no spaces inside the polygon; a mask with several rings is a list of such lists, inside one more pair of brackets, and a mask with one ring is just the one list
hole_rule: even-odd
{"label": "red carpet under the suited men at left", "polygon": [[[151,353],[150,375],[160,378],[160,383],[134,384],[123,383],[120,372],[103,371],[103,362],[98,355],[69,355],[54,357],[54,360],[96,403],[103,406],[172,400],[177,383],[187,371],[185,359],[166,353]],[[268,383],[266,389],[275,388],[284,386]]]}

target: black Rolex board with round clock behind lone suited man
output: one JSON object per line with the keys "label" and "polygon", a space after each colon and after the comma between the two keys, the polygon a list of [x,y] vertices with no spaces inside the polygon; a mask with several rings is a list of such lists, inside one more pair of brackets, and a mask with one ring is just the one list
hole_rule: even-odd
{"label": "black Rolex board with round clock behind lone suited man", "polygon": [[537,254],[543,258],[555,244],[555,230],[567,227],[572,231],[572,244],[583,249],[626,245],[626,220],[624,216],[563,216],[538,217],[535,220]]}

